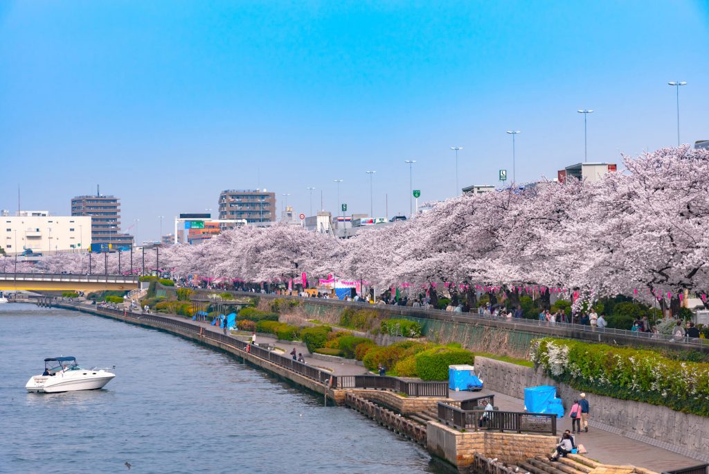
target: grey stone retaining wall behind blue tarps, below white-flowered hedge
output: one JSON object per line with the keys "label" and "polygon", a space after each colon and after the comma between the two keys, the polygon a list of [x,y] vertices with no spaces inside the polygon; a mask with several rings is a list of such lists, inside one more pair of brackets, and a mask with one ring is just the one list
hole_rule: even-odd
{"label": "grey stone retaining wall behind blue tarps, below white-flowered hedge", "polygon": [[[579,398],[578,390],[530,367],[476,357],[475,370],[487,389],[510,397],[523,399],[525,387],[554,385],[557,387],[557,397],[562,398],[566,409]],[[587,393],[586,399],[591,406],[589,424],[592,427],[709,462],[706,451],[709,445],[709,418],[593,393]]]}

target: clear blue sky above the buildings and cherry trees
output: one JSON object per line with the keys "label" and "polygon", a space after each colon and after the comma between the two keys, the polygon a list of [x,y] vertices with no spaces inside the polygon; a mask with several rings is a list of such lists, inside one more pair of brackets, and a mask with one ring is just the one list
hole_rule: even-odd
{"label": "clear blue sky above the buildings and cherry trees", "polygon": [[[707,1],[3,1],[0,208],[122,199],[124,228],[265,187],[408,213],[459,182],[709,138]],[[260,165],[259,165],[260,164]],[[388,198],[388,199],[387,199]]]}

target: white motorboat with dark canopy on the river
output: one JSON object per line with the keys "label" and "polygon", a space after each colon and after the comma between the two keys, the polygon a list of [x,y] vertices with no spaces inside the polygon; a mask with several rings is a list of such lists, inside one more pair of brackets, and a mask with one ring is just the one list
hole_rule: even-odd
{"label": "white motorboat with dark canopy on the river", "polygon": [[45,359],[45,371],[28,380],[28,392],[73,392],[103,388],[116,374],[106,369],[84,369],[74,357],[51,357]]}

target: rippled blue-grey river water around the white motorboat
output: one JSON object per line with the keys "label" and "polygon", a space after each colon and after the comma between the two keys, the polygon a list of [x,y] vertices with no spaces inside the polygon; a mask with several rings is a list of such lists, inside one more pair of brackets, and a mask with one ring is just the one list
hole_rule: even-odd
{"label": "rippled blue-grey river water around the white motorboat", "polygon": [[[442,473],[357,412],[225,353],[120,321],[0,304],[0,472]],[[28,394],[43,359],[116,365],[104,390]]]}

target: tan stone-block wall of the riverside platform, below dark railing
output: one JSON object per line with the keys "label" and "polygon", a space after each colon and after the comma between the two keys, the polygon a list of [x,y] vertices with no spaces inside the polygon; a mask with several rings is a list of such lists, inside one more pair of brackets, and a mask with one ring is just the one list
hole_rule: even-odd
{"label": "tan stone-block wall of the riverside platform, below dark railing", "polygon": [[458,431],[437,421],[429,421],[426,425],[428,451],[444,458],[462,472],[472,467],[476,453],[486,458],[498,458],[501,463],[522,463],[529,458],[552,453],[557,446],[557,438],[496,431]]}

